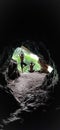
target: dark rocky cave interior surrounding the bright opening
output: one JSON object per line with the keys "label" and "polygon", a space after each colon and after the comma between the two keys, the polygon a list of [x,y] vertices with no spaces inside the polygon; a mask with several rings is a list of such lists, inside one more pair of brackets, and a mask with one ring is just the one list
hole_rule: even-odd
{"label": "dark rocky cave interior surrounding the bright opening", "polygon": [[[4,4],[0,16],[0,129],[59,130],[60,14],[55,10],[58,3],[13,3]],[[14,61],[16,71],[12,79],[8,67],[14,51],[21,46],[41,56],[53,71],[28,76],[19,72]]]}

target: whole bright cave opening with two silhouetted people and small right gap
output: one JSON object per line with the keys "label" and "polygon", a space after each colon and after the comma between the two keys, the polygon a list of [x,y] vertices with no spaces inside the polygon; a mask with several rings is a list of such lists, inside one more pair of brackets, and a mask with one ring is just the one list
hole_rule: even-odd
{"label": "whole bright cave opening with two silhouetted people and small right gap", "polygon": [[17,62],[17,69],[20,72],[38,72],[41,71],[42,68],[49,73],[53,71],[53,67],[47,64],[43,55],[39,53],[35,54],[23,45],[15,48],[12,60]]}

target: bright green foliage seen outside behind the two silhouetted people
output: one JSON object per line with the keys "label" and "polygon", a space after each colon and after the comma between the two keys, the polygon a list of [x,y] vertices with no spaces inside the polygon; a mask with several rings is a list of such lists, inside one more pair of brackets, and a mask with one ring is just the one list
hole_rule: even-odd
{"label": "bright green foliage seen outside behind the two silhouetted people", "polygon": [[[17,68],[19,71],[21,71],[21,60],[20,60],[20,53],[21,53],[21,48],[17,48],[14,53],[13,53],[13,56],[12,56],[12,59],[16,60],[17,61]],[[35,71],[38,71],[41,69],[41,66],[38,64],[37,60],[34,58],[34,57],[31,57],[30,53],[28,53],[26,50],[23,50],[24,52],[24,62],[27,64],[27,66],[24,67],[24,72],[28,72],[29,71],[29,66],[30,66],[30,63],[33,62],[35,64],[34,66],[34,70]]]}

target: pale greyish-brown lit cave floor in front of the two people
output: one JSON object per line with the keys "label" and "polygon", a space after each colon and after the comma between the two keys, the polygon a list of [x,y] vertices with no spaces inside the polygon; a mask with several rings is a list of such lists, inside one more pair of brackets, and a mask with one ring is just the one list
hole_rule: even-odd
{"label": "pale greyish-brown lit cave floor in front of the two people", "polygon": [[[40,89],[42,85],[46,73],[21,73],[20,77],[12,80],[8,84],[8,88],[10,88],[11,93],[15,97],[15,99],[21,103],[23,102],[26,95],[32,95],[36,92],[36,89]],[[43,90],[41,90],[42,92]]]}

